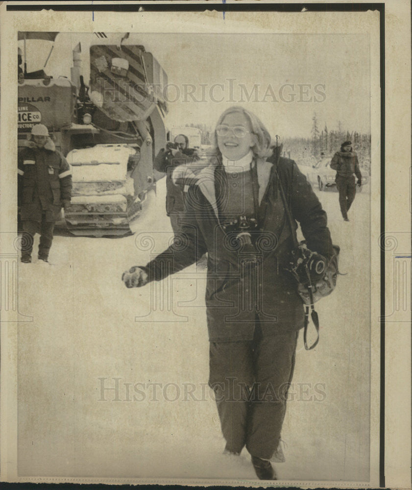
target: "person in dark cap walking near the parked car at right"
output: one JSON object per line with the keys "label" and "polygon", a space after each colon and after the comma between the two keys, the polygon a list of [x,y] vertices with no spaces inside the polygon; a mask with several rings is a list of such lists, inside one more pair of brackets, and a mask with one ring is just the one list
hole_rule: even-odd
{"label": "person in dark cap walking near the parked car at right", "polygon": [[339,192],[340,212],[344,221],[349,221],[348,211],[355,199],[355,174],[358,177],[357,185],[362,185],[362,174],[359,170],[358,155],[352,150],[352,143],[345,141],[331,160],[331,169],[336,170],[336,187]]}

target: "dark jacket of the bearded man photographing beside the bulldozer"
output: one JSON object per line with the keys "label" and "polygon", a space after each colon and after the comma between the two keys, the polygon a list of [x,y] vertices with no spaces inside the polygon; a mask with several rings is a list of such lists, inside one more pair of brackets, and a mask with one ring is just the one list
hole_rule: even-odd
{"label": "dark jacket of the bearded man photographing beside the bulldozer", "polygon": [[185,148],[183,151],[176,152],[175,155],[172,155],[170,150],[162,148],[154,159],[153,167],[158,172],[166,173],[166,212],[168,216],[170,213],[183,212],[185,210],[182,188],[180,185],[173,183],[171,174],[179,165],[191,163],[196,159],[197,154],[193,148]]}

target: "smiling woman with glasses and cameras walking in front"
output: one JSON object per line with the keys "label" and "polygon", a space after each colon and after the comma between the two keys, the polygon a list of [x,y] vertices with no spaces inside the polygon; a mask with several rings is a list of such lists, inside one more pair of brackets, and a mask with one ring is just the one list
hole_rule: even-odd
{"label": "smiling woman with glasses and cameras walking in front", "polygon": [[281,429],[304,325],[288,271],[296,221],[308,249],[317,252],[315,268],[333,255],[332,242],[326,213],[296,164],[280,154],[267,161],[270,135],[255,114],[241,106],[225,110],[214,140],[207,167],[174,171],[185,183],[185,246],[170,245],[122,280],[128,288],[160,281],[208,252],[209,386],[224,454],[236,461],[246,447],[258,478],[275,480],[271,462],[284,461]]}

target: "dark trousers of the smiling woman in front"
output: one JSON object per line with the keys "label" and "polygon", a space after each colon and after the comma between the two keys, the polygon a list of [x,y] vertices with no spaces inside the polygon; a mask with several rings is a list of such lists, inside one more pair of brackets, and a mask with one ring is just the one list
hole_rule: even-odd
{"label": "dark trousers of the smiling woman in front", "polygon": [[210,343],[209,386],[213,389],[226,449],[270,459],[286,413],[298,332],[253,341]]}

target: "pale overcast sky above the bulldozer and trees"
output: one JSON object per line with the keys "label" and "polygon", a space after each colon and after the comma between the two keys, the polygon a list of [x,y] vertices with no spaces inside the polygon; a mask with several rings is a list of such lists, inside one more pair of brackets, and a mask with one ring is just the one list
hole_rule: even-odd
{"label": "pale overcast sky above the bulldozer and trees", "polygon": [[[113,44],[122,36],[106,35]],[[59,33],[46,72],[70,77],[79,41],[88,80],[95,34]],[[340,121],[344,130],[370,132],[367,34],[130,34],[126,43],[144,45],[168,74],[170,127],[214,126],[224,109],[239,104],[272,136],[309,137],[314,113],[320,130],[325,123],[336,129]],[[50,47],[27,42],[28,71],[44,65]]]}

